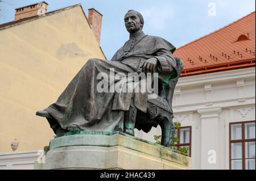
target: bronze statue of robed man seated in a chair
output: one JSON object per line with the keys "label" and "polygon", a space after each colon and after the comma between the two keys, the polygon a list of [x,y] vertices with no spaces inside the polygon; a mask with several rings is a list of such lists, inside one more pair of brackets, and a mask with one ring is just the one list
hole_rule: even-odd
{"label": "bronze statue of robed man seated in a chair", "polygon": [[[46,117],[57,135],[79,130],[120,131],[134,135],[134,128],[149,132],[159,124],[161,144],[170,146],[175,132],[172,95],[183,61],[172,55],[176,48],[168,41],[143,33],[144,20],[138,11],[128,11],[124,20],[130,39],[111,61],[88,60],[57,102],[36,115]],[[110,69],[114,70],[114,75],[157,72],[158,95],[148,99],[147,92],[99,92],[97,85],[101,80],[97,75],[111,74]],[[114,80],[115,83],[118,81]]]}

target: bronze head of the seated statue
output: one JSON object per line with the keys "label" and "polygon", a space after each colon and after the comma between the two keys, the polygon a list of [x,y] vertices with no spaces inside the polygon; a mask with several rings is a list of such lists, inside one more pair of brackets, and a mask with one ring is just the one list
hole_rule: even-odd
{"label": "bronze head of the seated statue", "polygon": [[140,12],[129,10],[125,14],[125,27],[129,33],[141,31],[144,25],[144,19]]}

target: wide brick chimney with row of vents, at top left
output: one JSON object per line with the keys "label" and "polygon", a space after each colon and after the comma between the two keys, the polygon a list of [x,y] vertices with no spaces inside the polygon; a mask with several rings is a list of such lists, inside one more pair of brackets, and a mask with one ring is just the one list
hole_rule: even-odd
{"label": "wide brick chimney with row of vents, at top left", "polygon": [[38,2],[32,5],[23,6],[15,9],[15,20],[29,18],[32,16],[42,16],[46,14],[47,2]]}

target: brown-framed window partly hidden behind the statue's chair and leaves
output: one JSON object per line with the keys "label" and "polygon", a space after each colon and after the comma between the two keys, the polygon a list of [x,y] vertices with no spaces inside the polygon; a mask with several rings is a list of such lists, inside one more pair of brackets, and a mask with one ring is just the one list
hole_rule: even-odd
{"label": "brown-framed window partly hidden behind the statue's chair and leaves", "polygon": [[191,155],[191,127],[176,128],[175,136],[179,138],[175,144],[176,149],[187,148],[188,155]]}

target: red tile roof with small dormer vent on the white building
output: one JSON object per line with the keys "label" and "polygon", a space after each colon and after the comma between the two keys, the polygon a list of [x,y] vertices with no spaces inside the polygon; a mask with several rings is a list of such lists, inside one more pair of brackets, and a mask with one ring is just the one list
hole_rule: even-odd
{"label": "red tile roof with small dormer vent on the white building", "polygon": [[255,11],[233,23],[179,47],[181,76],[255,66]]}

